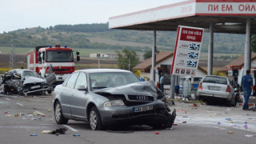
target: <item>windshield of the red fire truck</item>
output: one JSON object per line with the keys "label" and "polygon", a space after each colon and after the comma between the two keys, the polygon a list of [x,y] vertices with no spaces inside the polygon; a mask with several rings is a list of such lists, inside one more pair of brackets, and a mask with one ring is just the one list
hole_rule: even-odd
{"label": "windshield of the red fire truck", "polygon": [[73,62],[71,50],[49,50],[46,51],[46,62]]}

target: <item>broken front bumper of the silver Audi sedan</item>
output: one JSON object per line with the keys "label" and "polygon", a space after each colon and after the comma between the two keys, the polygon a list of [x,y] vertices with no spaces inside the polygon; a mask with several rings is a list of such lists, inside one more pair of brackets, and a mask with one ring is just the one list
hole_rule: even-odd
{"label": "broken front bumper of the silver Audi sedan", "polygon": [[176,118],[175,109],[168,112],[166,107],[161,104],[161,102],[157,102],[155,104],[151,103],[148,105],[153,106],[153,110],[134,112],[136,107],[146,106],[147,105],[101,110],[102,123],[105,126],[148,125],[165,128],[170,128],[173,125]]}

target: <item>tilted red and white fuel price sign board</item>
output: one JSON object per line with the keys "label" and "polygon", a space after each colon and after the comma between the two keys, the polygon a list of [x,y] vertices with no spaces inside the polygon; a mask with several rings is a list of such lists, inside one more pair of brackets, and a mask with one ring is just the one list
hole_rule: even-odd
{"label": "tilted red and white fuel price sign board", "polygon": [[202,28],[178,26],[170,74],[195,76],[202,47]]}

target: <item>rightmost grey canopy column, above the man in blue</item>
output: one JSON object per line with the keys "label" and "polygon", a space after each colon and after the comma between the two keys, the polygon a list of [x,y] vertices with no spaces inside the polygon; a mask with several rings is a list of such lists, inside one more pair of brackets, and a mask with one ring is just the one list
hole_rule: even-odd
{"label": "rightmost grey canopy column, above the man in blue", "polygon": [[[245,54],[244,54],[244,71],[250,70],[250,18],[246,19],[246,43],[245,43]],[[244,73],[245,74],[245,73]]]}

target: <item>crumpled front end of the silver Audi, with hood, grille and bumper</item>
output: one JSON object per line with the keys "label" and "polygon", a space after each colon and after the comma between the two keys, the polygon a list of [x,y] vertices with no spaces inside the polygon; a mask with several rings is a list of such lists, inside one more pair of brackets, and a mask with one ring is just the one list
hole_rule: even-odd
{"label": "crumpled front end of the silver Audi, with hood, grille and bumper", "polygon": [[94,92],[110,101],[98,107],[104,126],[148,125],[171,127],[176,110],[166,105],[166,95],[153,82],[138,82]]}

